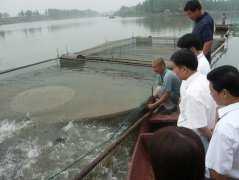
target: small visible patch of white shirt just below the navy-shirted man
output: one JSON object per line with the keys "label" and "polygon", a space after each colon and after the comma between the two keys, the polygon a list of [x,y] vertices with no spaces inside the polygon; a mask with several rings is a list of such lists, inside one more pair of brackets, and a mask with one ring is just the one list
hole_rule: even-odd
{"label": "small visible patch of white shirt just below the navy-shirted man", "polygon": [[203,75],[207,75],[211,71],[210,64],[206,58],[206,56],[201,52],[198,56],[198,68],[197,71]]}

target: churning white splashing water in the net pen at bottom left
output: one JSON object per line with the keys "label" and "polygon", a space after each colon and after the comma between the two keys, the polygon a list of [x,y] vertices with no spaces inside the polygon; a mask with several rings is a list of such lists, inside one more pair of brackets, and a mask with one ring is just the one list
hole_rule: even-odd
{"label": "churning white splashing water in the net pen at bottom left", "polygon": [[99,144],[118,134],[115,128],[119,127],[118,123],[115,127],[74,121],[40,127],[29,123],[7,119],[0,123],[0,144],[4,146],[0,179],[47,179],[93,150],[57,179],[72,178],[105,148],[106,144]]}

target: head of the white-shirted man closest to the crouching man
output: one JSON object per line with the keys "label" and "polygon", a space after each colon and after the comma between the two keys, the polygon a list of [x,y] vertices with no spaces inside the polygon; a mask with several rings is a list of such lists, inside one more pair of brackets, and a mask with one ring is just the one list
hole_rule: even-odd
{"label": "head of the white-shirted man closest to the crouching man", "polygon": [[197,71],[198,60],[195,54],[189,49],[180,49],[171,56],[173,71],[181,79],[188,79]]}

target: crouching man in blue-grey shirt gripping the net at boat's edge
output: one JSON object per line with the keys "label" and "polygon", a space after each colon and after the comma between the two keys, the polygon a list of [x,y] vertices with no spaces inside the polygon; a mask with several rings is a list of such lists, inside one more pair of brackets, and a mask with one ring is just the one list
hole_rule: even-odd
{"label": "crouching man in blue-grey shirt gripping the net at boat's edge", "polygon": [[157,75],[157,88],[154,93],[156,101],[149,103],[148,108],[156,109],[163,106],[166,110],[175,111],[180,95],[181,81],[173,71],[166,68],[166,64],[162,58],[154,60],[152,68]]}

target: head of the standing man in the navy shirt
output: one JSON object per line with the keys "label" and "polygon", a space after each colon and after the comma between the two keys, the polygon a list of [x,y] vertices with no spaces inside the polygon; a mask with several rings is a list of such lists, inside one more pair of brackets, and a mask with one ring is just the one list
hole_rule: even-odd
{"label": "head of the standing man in the navy shirt", "polygon": [[184,12],[193,21],[202,15],[202,5],[198,0],[190,0],[184,6]]}

